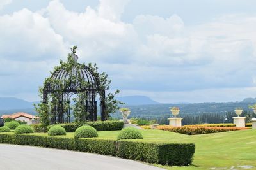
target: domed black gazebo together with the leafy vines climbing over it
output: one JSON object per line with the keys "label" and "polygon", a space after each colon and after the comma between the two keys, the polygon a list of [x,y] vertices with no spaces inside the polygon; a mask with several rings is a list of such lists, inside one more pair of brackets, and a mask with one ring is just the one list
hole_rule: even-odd
{"label": "domed black gazebo together with the leafy vines climbing over it", "polygon": [[42,101],[35,108],[42,126],[70,122],[71,112],[76,122],[97,120],[97,97],[103,121],[124,104],[115,99],[119,90],[105,95],[111,83],[108,74],[99,73],[96,64],[78,63],[76,49],[77,46],[71,49],[67,62],[60,60],[60,66],[54,67],[51,76],[39,87]]}

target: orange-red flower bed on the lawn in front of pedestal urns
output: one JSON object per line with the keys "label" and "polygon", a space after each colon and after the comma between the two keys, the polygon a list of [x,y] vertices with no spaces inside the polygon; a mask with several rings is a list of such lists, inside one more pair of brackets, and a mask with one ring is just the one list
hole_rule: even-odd
{"label": "orange-red flower bed on the lawn in front of pedestal urns", "polygon": [[160,125],[157,129],[170,131],[170,132],[177,132],[180,134],[188,134],[188,135],[195,135],[195,134],[209,134],[209,133],[217,133],[217,132],[227,132],[227,131],[237,131],[248,129],[246,127],[172,127],[170,125]]}

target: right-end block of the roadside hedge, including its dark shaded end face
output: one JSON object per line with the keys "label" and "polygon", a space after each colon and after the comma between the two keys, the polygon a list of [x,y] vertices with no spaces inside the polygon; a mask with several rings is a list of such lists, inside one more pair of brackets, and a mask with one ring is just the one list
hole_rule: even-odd
{"label": "right-end block of the roadside hedge, including its dark shaded end face", "polygon": [[120,141],[118,147],[119,157],[170,166],[188,166],[195,153],[195,145],[192,143],[156,144]]}

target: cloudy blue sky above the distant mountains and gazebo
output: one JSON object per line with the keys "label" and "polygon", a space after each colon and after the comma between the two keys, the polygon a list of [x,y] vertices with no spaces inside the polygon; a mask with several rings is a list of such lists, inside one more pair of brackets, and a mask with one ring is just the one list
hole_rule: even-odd
{"label": "cloudy blue sky above the distant mountains and gazebo", "polygon": [[0,97],[38,101],[77,45],[120,96],[161,103],[256,97],[256,1],[0,0]]}

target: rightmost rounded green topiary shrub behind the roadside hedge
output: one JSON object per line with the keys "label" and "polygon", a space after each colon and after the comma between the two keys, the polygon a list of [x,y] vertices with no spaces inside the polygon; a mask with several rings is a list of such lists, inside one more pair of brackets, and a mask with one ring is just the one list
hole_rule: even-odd
{"label": "rightmost rounded green topiary shrub behind the roadside hedge", "polygon": [[117,139],[143,139],[143,136],[135,127],[126,127],[118,134]]}

